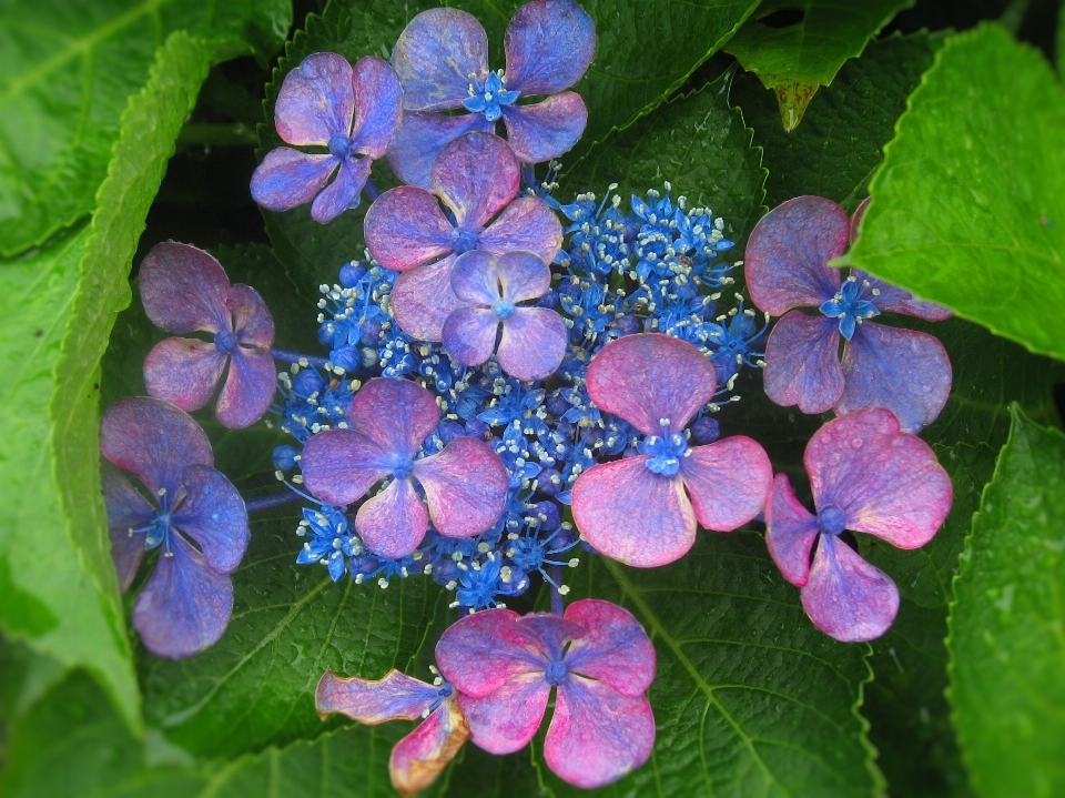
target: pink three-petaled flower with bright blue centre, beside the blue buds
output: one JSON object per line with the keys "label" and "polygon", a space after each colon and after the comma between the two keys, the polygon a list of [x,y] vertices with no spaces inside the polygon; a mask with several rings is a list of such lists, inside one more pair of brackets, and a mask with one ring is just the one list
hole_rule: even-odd
{"label": "pink three-petaled flower with bright blue centre, beside the blue buds", "polygon": [[592,402],[647,436],[639,454],[577,477],[574,522],[597,552],[639,567],[665,565],[691,548],[697,521],[728,532],[761,512],[773,478],[764,449],[742,435],[706,446],[689,446],[684,435],[716,388],[708,357],[659,333],[612,341],[591,361]]}

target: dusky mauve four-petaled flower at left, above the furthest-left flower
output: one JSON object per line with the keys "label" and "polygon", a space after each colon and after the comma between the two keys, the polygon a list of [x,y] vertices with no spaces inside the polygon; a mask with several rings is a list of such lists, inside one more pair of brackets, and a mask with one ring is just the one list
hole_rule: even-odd
{"label": "dusky mauve four-petaled flower at left, above the furthest-left flower", "polygon": [[262,418],[276,381],[270,353],[274,320],[255,290],[230,285],[214,257],[179,243],[152,248],[141,262],[140,284],[144,312],[158,327],[214,336],[158,343],[144,358],[148,393],[184,411],[199,410],[211,401],[229,364],[215,406],[219,421],[246,427]]}

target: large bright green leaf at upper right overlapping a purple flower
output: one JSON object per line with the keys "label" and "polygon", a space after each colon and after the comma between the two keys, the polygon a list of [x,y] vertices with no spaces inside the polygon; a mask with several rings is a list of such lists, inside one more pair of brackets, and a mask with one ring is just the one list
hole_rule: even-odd
{"label": "large bright green leaf at upper right overlapping a purple flower", "polygon": [[985,24],[950,39],[873,179],[856,265],[1065,358],[1065,92]]}

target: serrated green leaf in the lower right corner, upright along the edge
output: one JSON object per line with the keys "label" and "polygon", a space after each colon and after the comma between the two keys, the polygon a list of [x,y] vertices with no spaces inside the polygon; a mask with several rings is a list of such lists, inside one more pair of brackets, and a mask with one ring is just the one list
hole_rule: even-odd
{"label": "serrated green leaf in the lower right corner, upright along the edge", "polygon": [[983,798],[1065,791],[1065,435],[1012,414],[947,642],[954,726]]}

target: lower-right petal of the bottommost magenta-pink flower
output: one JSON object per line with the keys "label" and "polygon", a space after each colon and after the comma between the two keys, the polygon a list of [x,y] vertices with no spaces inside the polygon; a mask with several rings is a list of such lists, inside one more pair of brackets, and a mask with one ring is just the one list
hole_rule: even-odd
{"label": "lower-right petal of the bottommost magenta-pink flower", "polygon": [[655,715],[642,695],[623,696],[572,674],[559,686],[544,759],[569,784],[592,789],[617,781],[653,748]]}

